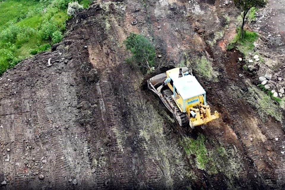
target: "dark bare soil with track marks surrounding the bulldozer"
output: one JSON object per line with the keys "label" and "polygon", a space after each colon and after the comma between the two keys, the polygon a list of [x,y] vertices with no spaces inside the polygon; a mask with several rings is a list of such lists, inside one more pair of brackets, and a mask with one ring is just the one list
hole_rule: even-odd
{"label": "dark bare soil with track marks surrounding the bulldozer", "polygon": [[[238,10],[223,3],[97,1],[68,21],[51,52],[5,72],[0,182],[7,184],[0,189],[284,189],[284,122],[264,122],[248,104],[240,53],[223,45],[234,29],[225,29],[223,15],[235,18]],[[222,30],[226,37],[209,47]],[[195,67],[194,58],[208,53],[218,82],[198,80],[221,117],[191,133],[179,127],[125,62],[130,32],[153,39],[167,67],[185,55]],[[198,169],[179,143],[200,133],[208,150],[225,148],[224,160],[213,155],[214,169]]]}

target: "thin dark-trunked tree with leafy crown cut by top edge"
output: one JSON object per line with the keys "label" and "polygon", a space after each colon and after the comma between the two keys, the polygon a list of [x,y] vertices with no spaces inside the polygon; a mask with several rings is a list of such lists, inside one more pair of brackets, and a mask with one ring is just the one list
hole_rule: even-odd
{"label": "thin dark-trunked tree with leafy crown cut by top edge", "polygon": [[246,14],[251,7],[263,7],[267,4],[267,0],[234,0],[235,6],[243,10],[243,23],[241,24],[240,38],[243,38],[243,27]]}

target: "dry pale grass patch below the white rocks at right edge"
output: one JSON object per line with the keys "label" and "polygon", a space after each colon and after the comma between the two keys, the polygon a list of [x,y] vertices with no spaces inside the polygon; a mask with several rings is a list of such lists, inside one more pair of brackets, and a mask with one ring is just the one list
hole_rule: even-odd
{"label": "dry pale grass patch below the white rocks at right edge", "polygon": [[[273,100],[271,98],[271,92],[268,94],[265,94],[262,90],[258,89],[257,87],[248,84],[250,87],[248,88],[249,94],[247,101],[256,107],[258,114],[260,115],[261,119],[263,121],[267,120],[268,116],[271,116],[275,118],[277,121],[280,121],[282,123],[283,115],[282,110],[279,105],[275,104],[276,100]],[[278,102],[279,99],[277,100]]]}

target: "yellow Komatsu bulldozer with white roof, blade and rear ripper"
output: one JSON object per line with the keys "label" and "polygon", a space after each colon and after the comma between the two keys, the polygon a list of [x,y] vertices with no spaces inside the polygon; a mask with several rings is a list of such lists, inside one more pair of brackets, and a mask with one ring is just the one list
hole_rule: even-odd
{"label": "yellow Komatsu bulldozer with white roof, blade and rear ripper", "polygon": [[206,124],[219,118],[217,111],[211,115],[206,103],[206,92],[192,71],[177,67],[148,79],[148,88],[157,94],[180,126]]}

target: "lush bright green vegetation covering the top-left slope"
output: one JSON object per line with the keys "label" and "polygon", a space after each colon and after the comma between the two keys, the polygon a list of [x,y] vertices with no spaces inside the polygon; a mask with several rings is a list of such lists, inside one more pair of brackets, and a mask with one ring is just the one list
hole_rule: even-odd
{"label": "lush bright green vegetation covering the top-left slope", "polygon": [[[0,74],[62,40],[69,2],[72,0],[0,2]],[[90,2],[79,1],[84,7]]]}

